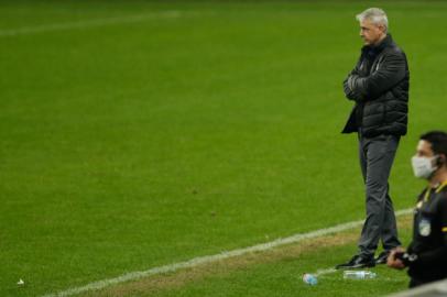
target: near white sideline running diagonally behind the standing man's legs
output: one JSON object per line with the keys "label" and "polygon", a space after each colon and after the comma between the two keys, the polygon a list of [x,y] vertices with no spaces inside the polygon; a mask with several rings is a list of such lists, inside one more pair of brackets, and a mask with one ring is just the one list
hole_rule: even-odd
{"label": "near white sideline running diagonally behind the standing man's legs", "polygon": [[[412,211],[413,211],[413,208],[399,210],[395,212],[395,216],[399,217],[402,215],[408,215]],[[291,243],[297,243],[297,242],[306,240],[306,239],[319,238],[319,237],[327,235],[330,233],[341,232],[345,230],[353,229],[353,228],[362,226],[362,224],[363,224],[363,220],[336,224],[330,228],[319,229],[319,230],[310,231],[307,233],[298,233],[298,234],[292,235],[290,238],[277,239],[277,240],[274,240],[271,242],[257,244],[257,245],[244,248],[244,249],[222,252],[222,253],[216,254],[216,255],[199,256],[199,257],[195,257],[189,261],[186,261],[186,262],[179,262],[179,263],[174,263],[174,264],[170,264],[170,265],[165,265],[165,266],[153,267],[148,271],[131,272],[131,273],[123,274],[123,275],[115,277],[115,278],[98,280],[98,282],[81,286],[81,287],[69,288],[69,289],[66,289],[66,290],[63,290],[59,293],[47,294],[42,297],[64,297],[64,296],[72,296],[72,295],[80,294],[84,292],[102,289],[105,287],[108,287],[108,286],[111,286],[115,284],[120,284],[120,283],[124,283],[128,280],[135,280],[135,279],[151,276],[151,275],[175,272],[175,271],[182,270],[182,268],[192,268],[192,267],[198,266],[200,264],[208,264],[211,262],[217,262],[220,260],[239,256],[239,255],[243,255],[243,254],[248,254],[248,253],[268,251],[268,250],[271,250],[276,246],[291,244]],[[329,270],[321,271],[318,275],[323,275],[323,274],[327,274],[327,273],[329,273]]]}

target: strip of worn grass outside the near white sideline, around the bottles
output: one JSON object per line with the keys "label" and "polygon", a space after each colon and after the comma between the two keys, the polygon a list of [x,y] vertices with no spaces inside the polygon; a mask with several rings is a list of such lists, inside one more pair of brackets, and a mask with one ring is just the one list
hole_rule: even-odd
{"label": "strip of worn grass outside the near white sideline, around the bottles", "polygon": [[[411,217],[400,218],[401,235],[410,235]],[[268,252],[200,265],[177,273],[110,286],[83,294],[83,297],[106,296],[381,296],[407,286],[402,272],[384,266],[372,268],[374,279],[344,279],[341,272],[318,276],[317,286],[301,279],[304,273],[318,273],[328,263],[341,261],[351,253],[360,229],[308,240]]]}

